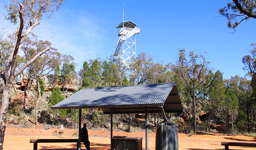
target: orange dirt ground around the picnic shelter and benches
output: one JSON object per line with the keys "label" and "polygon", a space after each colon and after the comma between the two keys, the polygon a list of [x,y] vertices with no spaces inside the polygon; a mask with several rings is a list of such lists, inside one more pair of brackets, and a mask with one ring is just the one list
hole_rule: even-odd
{"label": "orange dirt ground around the picnic shelter and benches", "polygon": [[[63,134],[60,135],[60,131]],[[77,138],[78,130],[58,128],[6,128],[4,138],[4,150],[32,150],[33,143],[29,143],[30,139],[56,139],[56,138]],[[110,131],[107,130],[88,130],[89,141],[92,150],[110,150]],[[142,137],[143,149],[145,150],[145,132],[113,132],[113,136]],[[179,133],[179,149],[180,150],[221,150],[221,142],[251,142],[256,143],[256,137],[248,136],[232,136],[225,134],[205,134],[188,135]],[[155,132],[149,132],[148,149],[155,150]],[[81,144],[81,149],[86,149]],[[230,150],[243,149],[255,150],[249,147],[230,146]],[[76,143],[38,143],[38,150],[76,150]]]}

